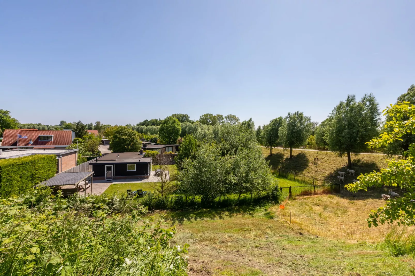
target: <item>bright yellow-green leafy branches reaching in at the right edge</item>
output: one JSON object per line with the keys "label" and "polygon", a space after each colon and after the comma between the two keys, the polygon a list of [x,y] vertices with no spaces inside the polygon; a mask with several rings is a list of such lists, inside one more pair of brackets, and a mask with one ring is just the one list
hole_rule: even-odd
{"label": "bright yellow-green leafy branches reaching in at the right edge", "polygon": [[[388,144],[401,141],[405,134],[415,134],[415,106],[409,102],[399,102],[388,107],[384,111],[391,121],[387,121],[385,129],[390,131],[383,132],[378,138],[368,142],[372,148],[381,148]],[[404,153],[405,160],[387,160],[388,167],[381,169],[380,172],[371,172],[358,177],[358,182],[346,185],[349,191],[367,191],[368,187],[382,185],[400,187],[402,193],[400,197],[395,197],[386,201],[386,205],[374,211],[367,222],[377,226],[378,223],[393,223],[398,225],[415,224],[415,144],[410,145]]]}

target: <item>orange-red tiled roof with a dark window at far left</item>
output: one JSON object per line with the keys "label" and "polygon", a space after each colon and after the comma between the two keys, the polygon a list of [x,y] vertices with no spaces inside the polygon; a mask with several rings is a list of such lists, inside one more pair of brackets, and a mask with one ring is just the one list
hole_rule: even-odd
{"label": "orange-red tiled roof with a dark window at far left", "polygon": [[[72,143],[72,131],[45,131],[34,129],[5,129],[3,133],[2,146],[16,146],[17,134],[27,136],[27,138],[19,138],[20,146],[62,146],[71,145]],[[39,141],[39,136],[53,135],[53,141]],[[29,144],[30,140],[33,141],[32,145]]]}

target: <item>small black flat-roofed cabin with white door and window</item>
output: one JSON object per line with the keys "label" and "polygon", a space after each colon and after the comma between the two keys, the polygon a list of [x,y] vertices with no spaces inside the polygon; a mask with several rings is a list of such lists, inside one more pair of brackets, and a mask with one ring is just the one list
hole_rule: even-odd
{"label": "small black flat-roofed cabin with white door and window", "polygon": [[142,151],[108,153],[90,162],[93,180],[144,179],[151,174],[151,157],[144,157]]}

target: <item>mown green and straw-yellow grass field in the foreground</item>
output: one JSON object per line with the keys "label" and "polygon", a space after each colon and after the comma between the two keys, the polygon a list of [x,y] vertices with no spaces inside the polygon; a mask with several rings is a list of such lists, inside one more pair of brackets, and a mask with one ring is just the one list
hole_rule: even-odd
{"label": "mown green and straw-yellow grass field in the foreground", "polygon": [[[161,212],[188,243],[189,275],[411,275],[410,256],[377,248],[387,225],[368,228],[372,194],[347,192],[277,206]],[[292,213],[291,224],[289,213]]]}

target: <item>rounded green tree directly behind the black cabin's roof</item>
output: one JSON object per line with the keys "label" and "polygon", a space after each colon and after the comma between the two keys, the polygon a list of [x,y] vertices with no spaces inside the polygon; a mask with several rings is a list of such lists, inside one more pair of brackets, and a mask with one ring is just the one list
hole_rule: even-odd
{"label": "rounded green tree directly behind the black cabin's roof", "polygon": [[137,152],[141,149],[142,143],[137,131],[127,126],[117,126],[113,129],[110,147],[114,153]]}

